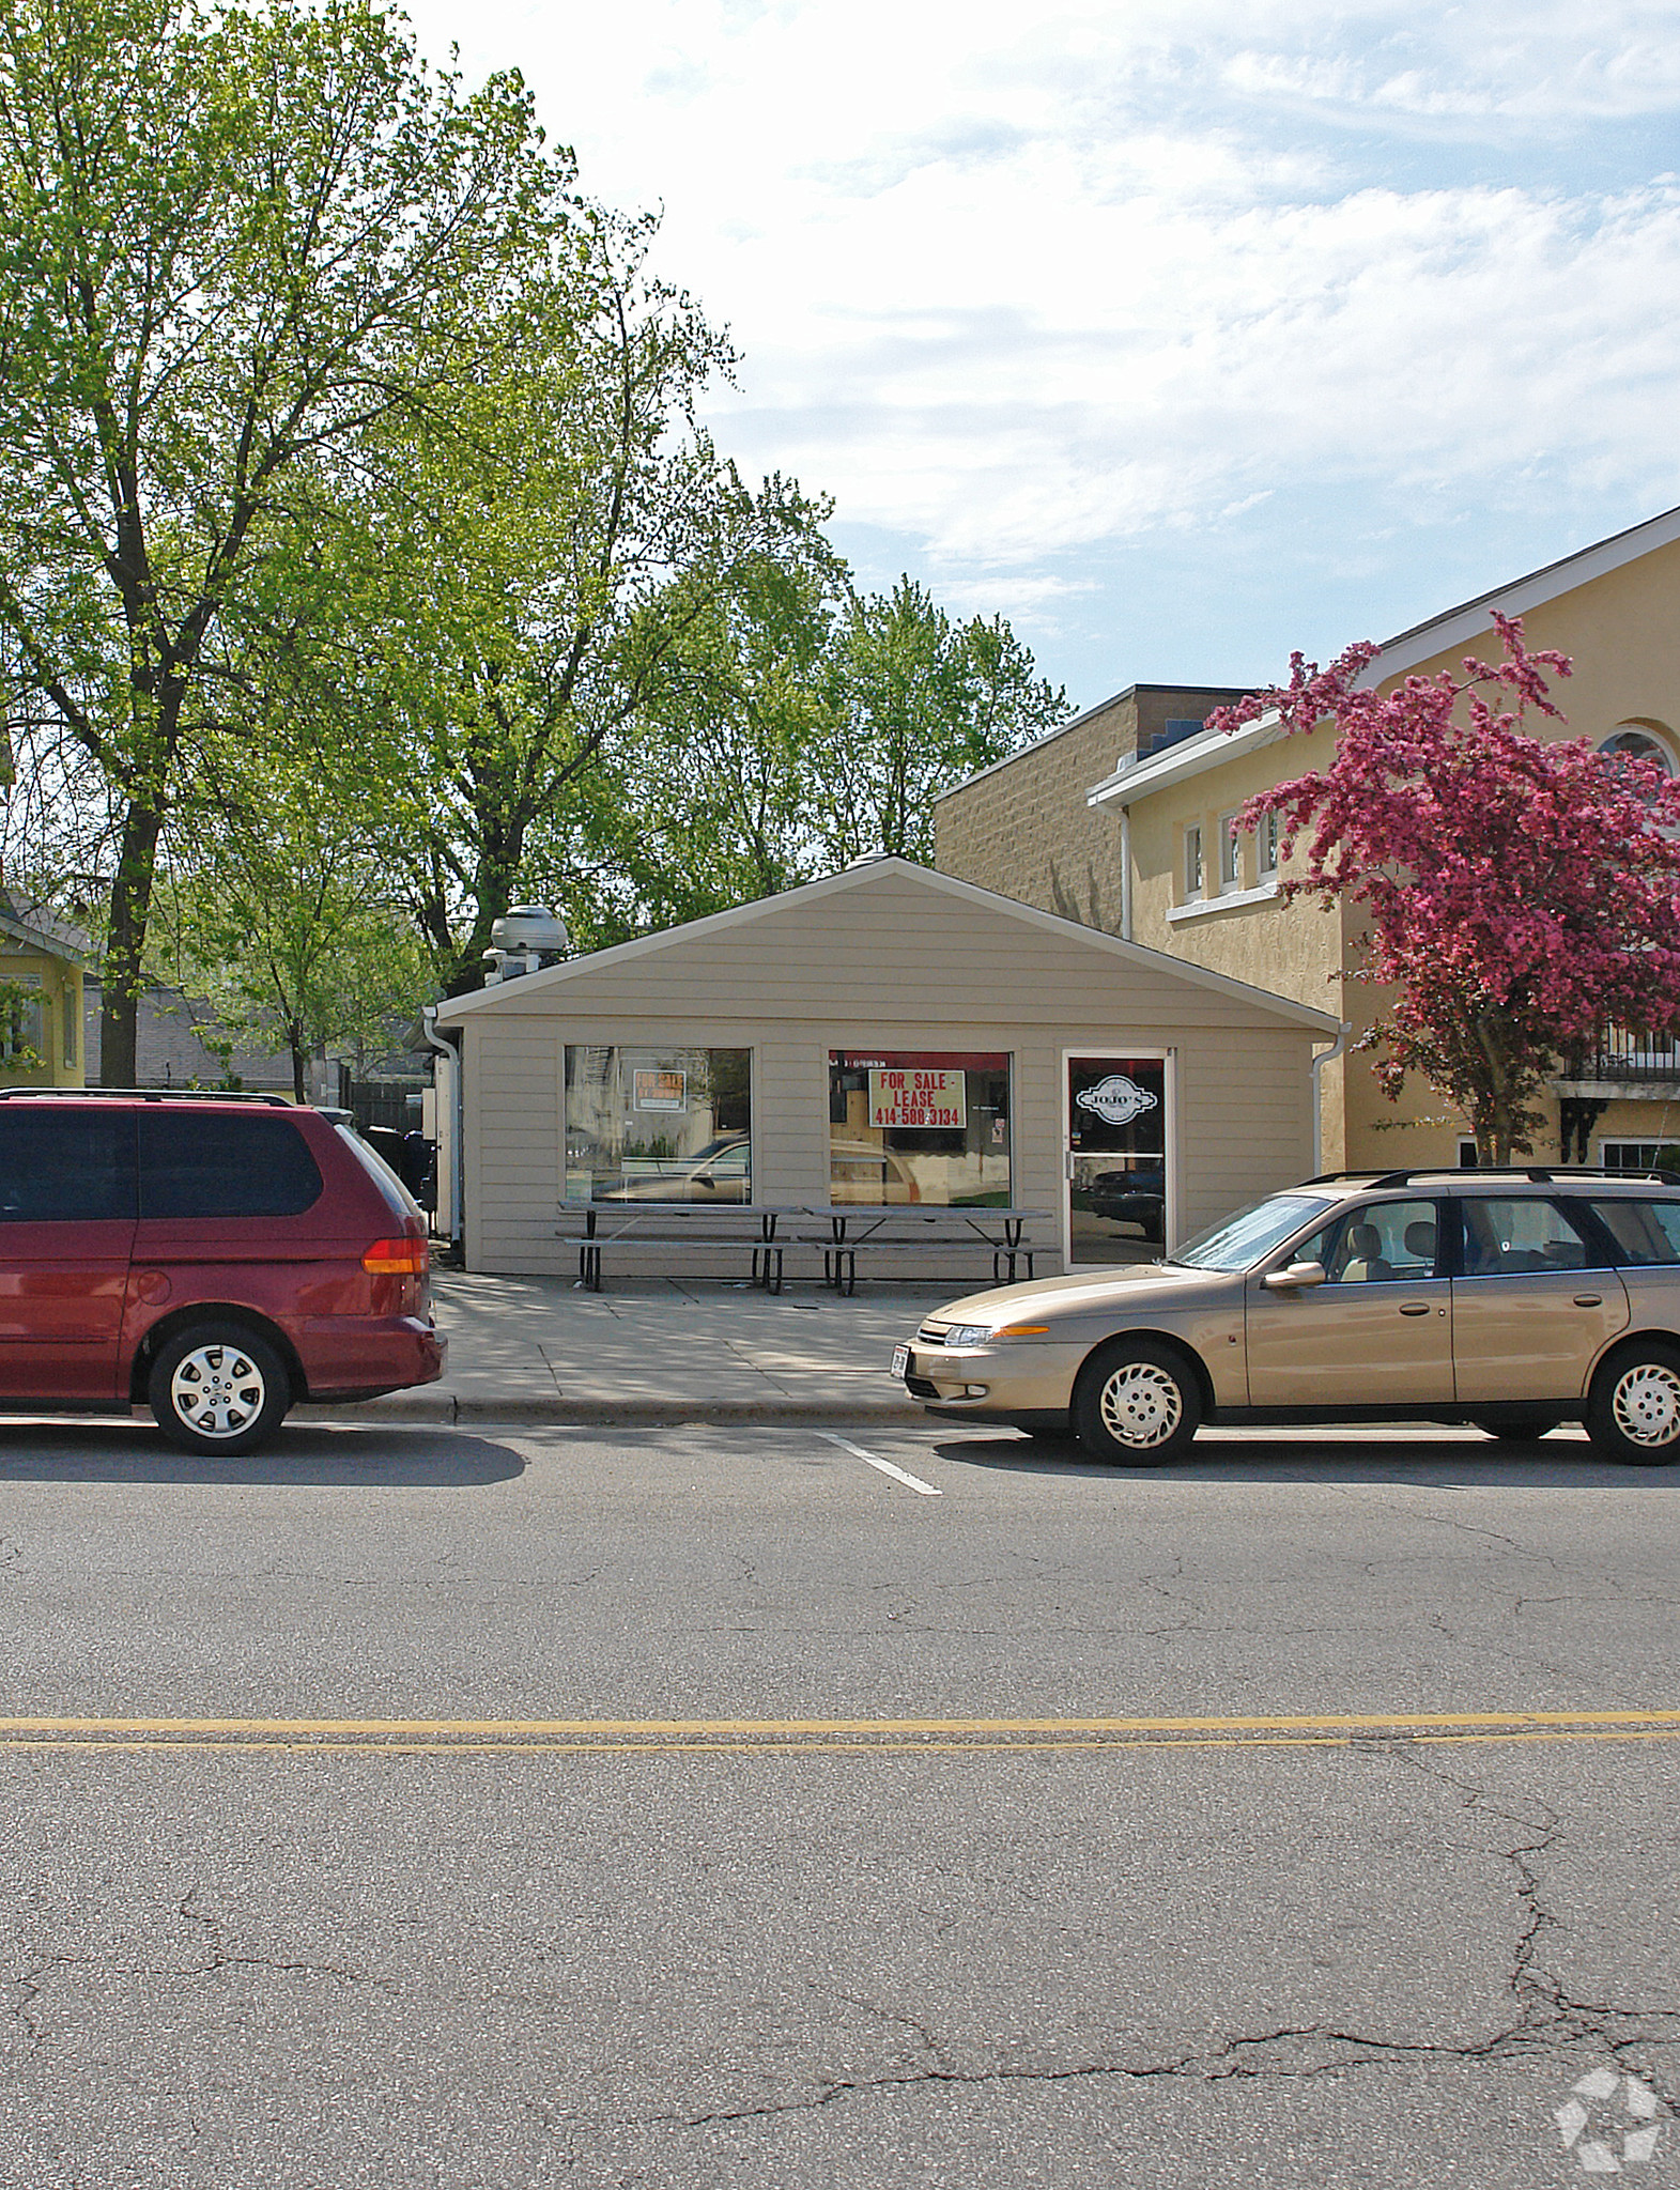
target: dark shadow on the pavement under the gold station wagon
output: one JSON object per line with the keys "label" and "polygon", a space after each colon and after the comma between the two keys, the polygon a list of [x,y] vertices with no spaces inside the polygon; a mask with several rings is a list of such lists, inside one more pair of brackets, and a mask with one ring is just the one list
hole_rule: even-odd
{"label": "dark shadow on the pavement under the gold station wagon", "polygon": [[1535,1439],[1496,1445],[1474,1437],[1404,1441],[1303,1441],[1279,1430],[1249,1432],[1240,1443],[1205,1432],[1176,1467],[1115,1467],[1093,1461],[1071,1437],[940,1439],[933,1448],[957,1467],[1016,1476],[1086,1476],[1108,1483],[1415,1483],[1419,1489],[1680,1489],[1680,1463],[1619,1467],[1601,1461],[1581,1439]]}

